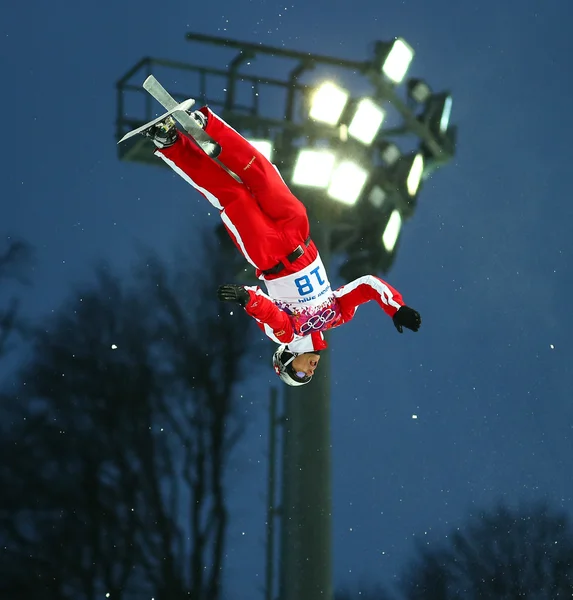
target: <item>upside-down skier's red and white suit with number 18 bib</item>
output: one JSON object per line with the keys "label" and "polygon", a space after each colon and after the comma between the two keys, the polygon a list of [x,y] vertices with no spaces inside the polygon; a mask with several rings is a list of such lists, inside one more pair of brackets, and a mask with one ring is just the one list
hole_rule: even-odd
{"label": "upside-down skier's red and white suit with number 18 bib", "polygon": [[[369,300],[393,317],[404,301],[378,277],[365,275],[331,289],[318,250],[309,241],[306,209],[277,168],[209,108],[201,112],[208,117],[206,133],[222,148],[218,160],[241,181],[185,134],[155,154],[217,208],[231,239],[265,281],[268,294],[245,286],[250,296],[245,310],[267,336],[293,352],[308,352],[326,348],[322,332],[350,321]],[[297,247],[301,255],[291,263],[287,257]],[[265,273],[277,263],[283,265],[279,273]]]}

